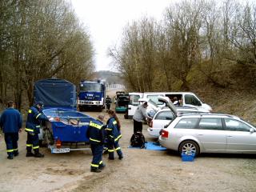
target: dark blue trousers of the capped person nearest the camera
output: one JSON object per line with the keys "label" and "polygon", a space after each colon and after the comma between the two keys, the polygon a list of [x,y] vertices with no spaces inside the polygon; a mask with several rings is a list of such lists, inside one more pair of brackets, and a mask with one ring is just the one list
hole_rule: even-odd
{"label": "dark blue trousers of the capped person nearest the camera", "polygon": [[103,145],[90,144],[90,148],[93,154],[93,161],[91,162],[90,166],[92,168],[98,168],[102,165]]}

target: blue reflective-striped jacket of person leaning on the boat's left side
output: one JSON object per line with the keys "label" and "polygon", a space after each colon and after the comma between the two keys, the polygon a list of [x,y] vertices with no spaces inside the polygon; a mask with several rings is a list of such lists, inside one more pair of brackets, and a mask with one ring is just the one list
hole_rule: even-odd
{"label": "blue reflective-striped jacket of person leaning on the boat's left side", "polygon": [[48,118],[37,107],[31,106],[26,119],[26,132],[39,134],[41,121],[48,121]]}

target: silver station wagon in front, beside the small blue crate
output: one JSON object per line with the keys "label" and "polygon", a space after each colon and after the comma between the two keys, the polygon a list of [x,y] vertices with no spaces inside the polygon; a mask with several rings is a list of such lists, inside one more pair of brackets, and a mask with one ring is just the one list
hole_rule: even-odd
{"label": "silver station wagon in front, beside the small blue crate", "polygon": [[182,114],[162,130],[159,142],[180,154],[256,154],[256,128],[230,114]]}

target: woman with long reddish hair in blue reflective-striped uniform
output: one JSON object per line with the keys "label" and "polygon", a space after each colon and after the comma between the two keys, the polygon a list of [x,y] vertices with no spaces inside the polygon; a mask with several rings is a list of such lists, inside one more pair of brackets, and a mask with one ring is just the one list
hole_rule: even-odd
{"label": "woman with long reddish hair in blue reflective-striped uniform", "polygon": [[114,160],[114,150],[118,153],[118,158],[121,160],[123,158],[121,147],[118,142],[122,138],[121,134],[121,125],[118,120],[117,115],[114,113],[114,110],[109,110],[108,114],[110,116],[106,125],[106,135],[108,141],[108,152],[109,159]]}

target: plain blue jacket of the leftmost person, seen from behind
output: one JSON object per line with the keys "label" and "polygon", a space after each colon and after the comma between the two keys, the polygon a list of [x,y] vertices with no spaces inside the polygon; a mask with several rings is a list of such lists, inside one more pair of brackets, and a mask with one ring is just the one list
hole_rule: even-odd
{"label": "plain blue jacket of the leftmost person, seen from behind", "polygon": [[1,115],[0,126],[3,133],[18,133],[22,128],[22,115],[14,108],[7,108]]}

